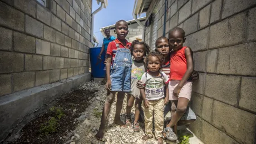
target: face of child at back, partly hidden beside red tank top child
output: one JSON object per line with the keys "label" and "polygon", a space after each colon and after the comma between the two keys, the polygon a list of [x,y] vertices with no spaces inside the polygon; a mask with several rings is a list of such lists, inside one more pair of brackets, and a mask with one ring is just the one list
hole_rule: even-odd
{"label": "face of child at back, partly hidden beside red tank top child", "polygon": [[156,41],[156,49],[160,54],[166,58],[170,54],[168,39],[160,39]]}

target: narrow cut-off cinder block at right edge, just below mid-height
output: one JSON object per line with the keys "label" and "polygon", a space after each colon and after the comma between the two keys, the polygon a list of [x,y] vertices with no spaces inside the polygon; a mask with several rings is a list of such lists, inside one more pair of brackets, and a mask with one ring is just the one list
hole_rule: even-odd
{"label": "narrow cut-off cinder block at right edge, just below mid-height", "polygon": [[256,112],[256,79],[242,77],[239,106]]}

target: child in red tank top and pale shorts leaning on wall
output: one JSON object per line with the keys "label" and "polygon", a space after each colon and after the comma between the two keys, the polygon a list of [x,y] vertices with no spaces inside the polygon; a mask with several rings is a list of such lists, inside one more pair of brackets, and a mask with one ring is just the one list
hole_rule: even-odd
{"label": "child in red tank top and pale shorts leaning on wall", "polygon": [[173,49],[170,56],[169,100],[171,107],[176,107],[164,130],[166,138],[170,141],[177,139],[172,127],[186,112],[191,98],[192,81],[189,78],[194,71],[193,52],[189,47],[183,47],[185,40],[183,29],[176,27],[169,31],[169,46]]}

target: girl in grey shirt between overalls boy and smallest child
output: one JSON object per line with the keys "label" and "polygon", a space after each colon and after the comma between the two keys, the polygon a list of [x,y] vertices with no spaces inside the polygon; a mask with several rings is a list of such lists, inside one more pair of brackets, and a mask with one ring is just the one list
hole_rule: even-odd
{"label": "girl in grey shirt between overalls boy and smallest child", "polygon": [[126,106],[126,125],[131,125],[131,108],[135,101],[135,118],[134,118],[134,131],[140,131],[140,125],[138,123],[141,109],[142,97],[140,96],[140,89],[136,87],[136,83],[141,79],[142,74],[145,73],[144,58],[149,54],[150,48],[145,42],[139,42],[134,40],[131,44],[131,54],[134,57],[131,66],[131,92],[127,96]]}

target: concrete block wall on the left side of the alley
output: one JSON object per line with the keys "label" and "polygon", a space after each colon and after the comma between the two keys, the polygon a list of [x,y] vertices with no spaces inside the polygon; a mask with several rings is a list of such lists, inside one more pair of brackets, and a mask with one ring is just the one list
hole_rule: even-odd
{"label": "concrete block wall on the left side of the alley", "polygon": [[88,72],[91,0],[0,1],[0,96]]}

